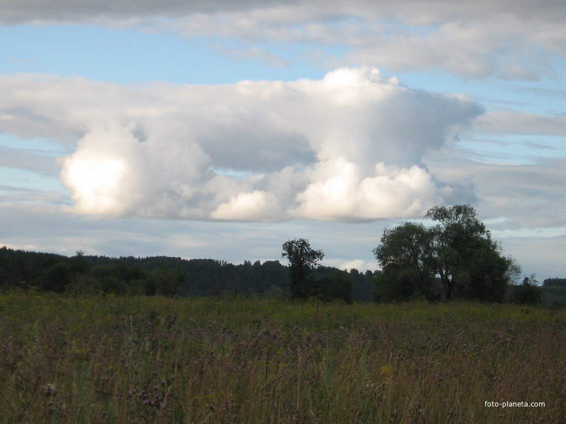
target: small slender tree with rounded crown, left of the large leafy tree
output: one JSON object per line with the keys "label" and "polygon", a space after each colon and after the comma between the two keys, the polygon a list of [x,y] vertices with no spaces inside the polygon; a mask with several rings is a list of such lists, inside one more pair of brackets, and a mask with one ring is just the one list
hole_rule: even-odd
{"label": "small slender tree with rounded crown, left of the large leafy tree", "polygon": [[281,257],[289,259],[289,291],[293,298],[316,296],[314,284],[308,275],[324,257],[322,250],[313,250],[308,240],[294,239],[283,244]]}

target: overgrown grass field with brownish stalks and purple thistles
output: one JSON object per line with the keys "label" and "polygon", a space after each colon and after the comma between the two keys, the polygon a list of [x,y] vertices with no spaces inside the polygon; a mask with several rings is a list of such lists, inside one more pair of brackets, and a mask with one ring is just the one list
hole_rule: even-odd
{"label": "overgrown grass field with brownish stalks and purple thistles", "polygon": [[5,293],[0,319],[2,423],[566,422],[564,309]]}

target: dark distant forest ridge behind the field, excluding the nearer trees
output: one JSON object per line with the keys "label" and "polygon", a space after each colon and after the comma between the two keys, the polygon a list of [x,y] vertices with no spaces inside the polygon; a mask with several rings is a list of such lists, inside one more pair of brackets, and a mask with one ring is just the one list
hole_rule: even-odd
{"label": "dark distant forest ridge behind the field, excluding the nearer trees", "polygon": [[[314,279],[345,272],[351,279],[353,300],[370,301],[373,273],[319,266]],[[289,267],[279,261],[245,261],[233,265],[216,259],[167,256],[106,257],[78,252],[55,253],[0,248],[0,287],[35,288],[69,293],[216,296],[260,295],[288,297]]]}

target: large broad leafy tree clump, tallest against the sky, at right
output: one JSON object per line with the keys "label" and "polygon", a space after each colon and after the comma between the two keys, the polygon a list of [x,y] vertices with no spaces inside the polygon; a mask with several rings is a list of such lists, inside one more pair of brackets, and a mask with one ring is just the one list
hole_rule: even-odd
{"label": "large broad leafy tree clump, tallest against the sky, at right", "polygon": [[447,299],[457,294],[503,300],[505,287],[520,267],[501,255],[499,243],[491,239],[475,209],[435,206],[425,217],[436,224],[426,228],[407,222],[385,230],[381,245],[374,249],[382,269],[376,288],[389,297],[428,296],[438,276]]}

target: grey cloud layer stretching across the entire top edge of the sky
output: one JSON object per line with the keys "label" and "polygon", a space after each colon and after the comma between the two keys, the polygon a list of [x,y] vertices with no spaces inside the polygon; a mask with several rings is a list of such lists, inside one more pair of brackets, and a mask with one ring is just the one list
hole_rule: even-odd
{"label": "grey cloud layer stretching across the entire top edge of the sky", "polygon": [[79,22],[204,37],[234,57],[272,66],[288,58],[258,42],[302,45],[311,53],[343,46],[346,53],[323,54],[325,60],[480,79],[535,80],[554,72],[554,55],[566,55],[561,0],[387,0],[379,7],[370,0],[3,0],[0,11],[5,24]]}

